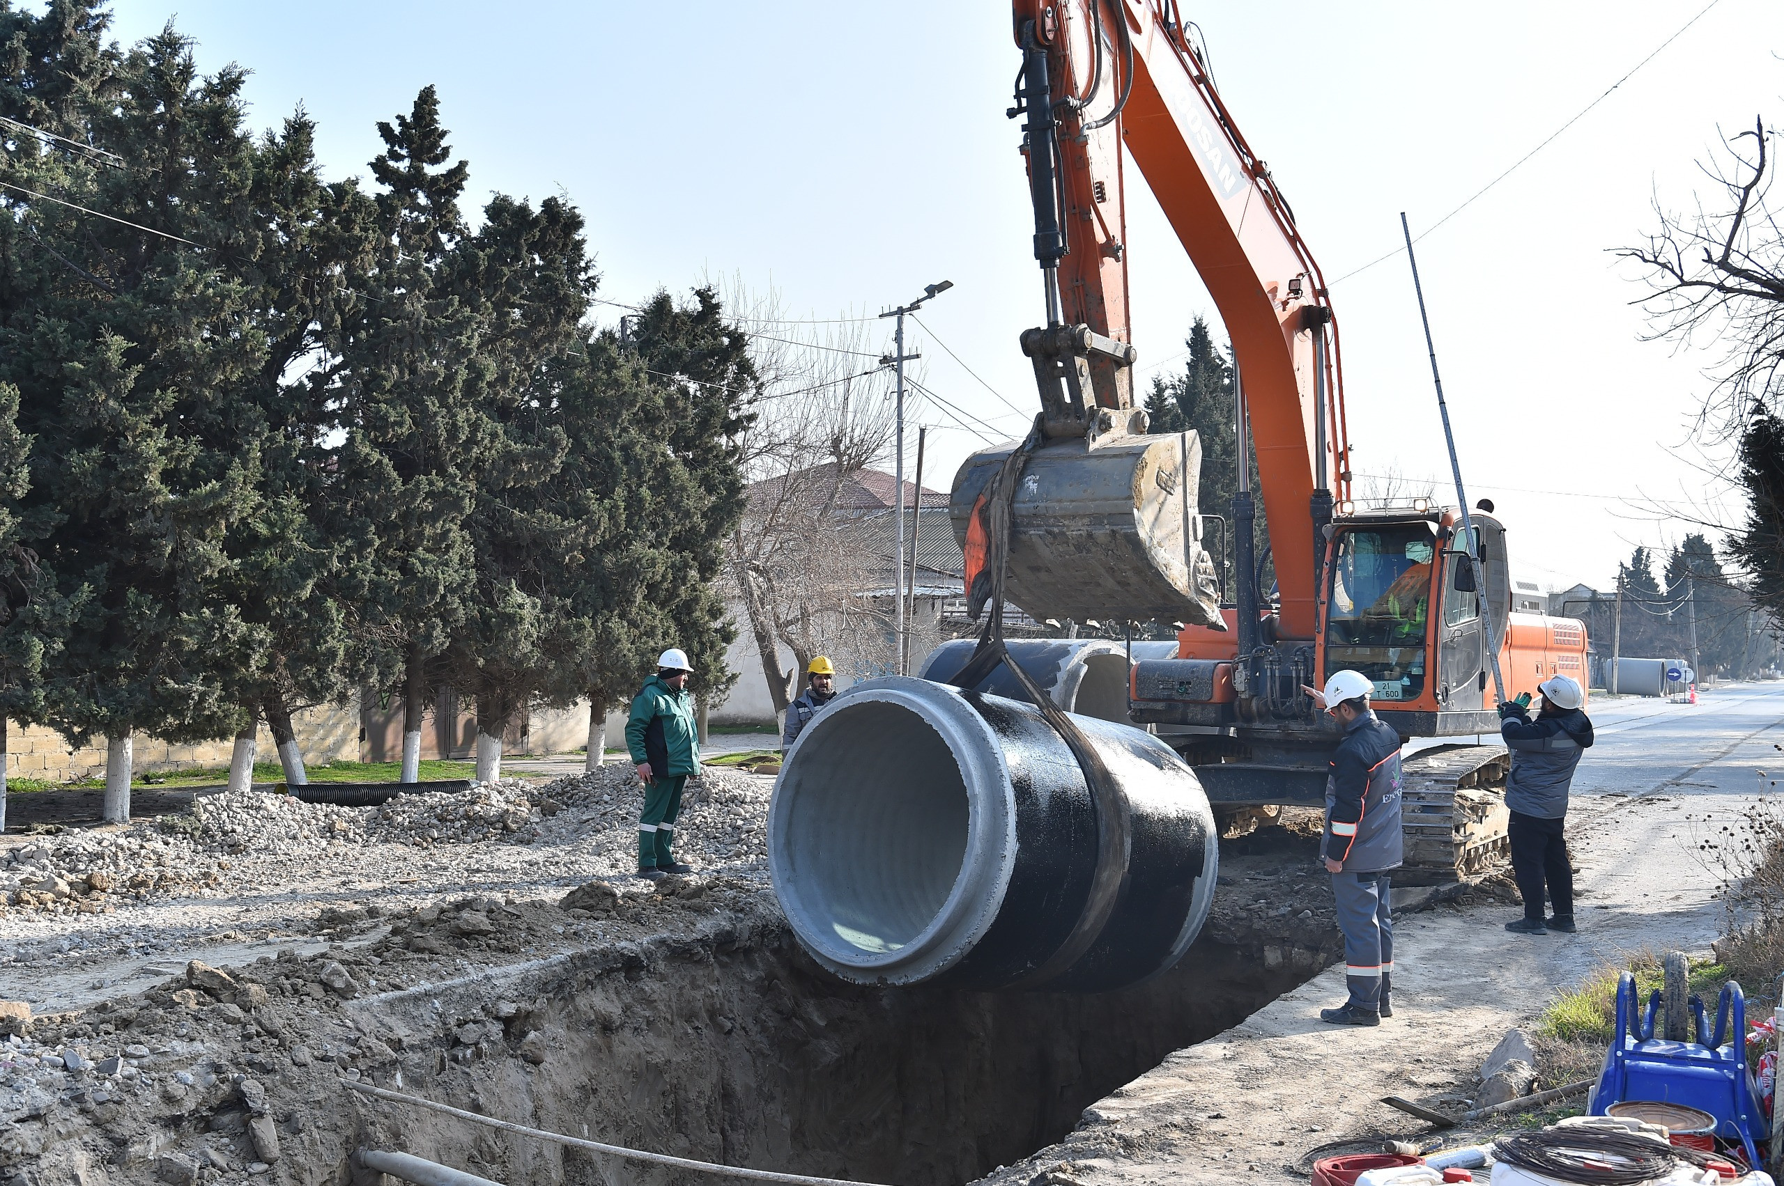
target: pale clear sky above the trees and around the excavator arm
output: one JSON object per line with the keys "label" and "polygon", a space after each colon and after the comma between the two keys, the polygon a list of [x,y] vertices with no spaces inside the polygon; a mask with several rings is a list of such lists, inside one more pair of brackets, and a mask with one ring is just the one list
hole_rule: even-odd
{"label": "pale clear sky above the trees and around the excavator arm", "polygon": [[[1326,275],[1342,276],[1395,246],[1399,210],[1415,234],[1434,223],[1706,2],[1181,7]],[[364,177],[375,121],[439,86],[473,205],[494,191],[566,194],[589,219],[605,298],[739,275],[776,289],[790,317],[837,317],[953,280],[924,321],[1004,399],[1037,407],[1017,334],[1042,317],[1040,284],[1019,132],[1004,118],[1019,59],[999,0],[120,0],[116,32],[137,39],[169,18],[205,70],[253,71],[255,123],[303,103],[334,177]],[[1641,341],[1629,305],[1641,287],[1609,250],[1656,226],[1656,196],[1691,202],[1718,128],[1784,118],[1780,52],[1784,4],[1718,0],[1418,246],[1470,499],[1497,499],[1529,580],[1609,587],[1634,544],[1691,530],[1645,514],[1654,499],[1738,514],[1688,446],[1716,355]],[[1129,259],[1145,382],[1177,366],[1195,314],[1217,325],[1218,314],[1136,178]],[[1333,301],[1356,469],[1443,489],[1404,255],[1336,284]],[[929,387],[992,435],[1020,433],[1026,414],[921,330],[913,341]],[[915,421],[942,428],[926,485],[947,489],[983,441],[933,405],[919,403]]]}

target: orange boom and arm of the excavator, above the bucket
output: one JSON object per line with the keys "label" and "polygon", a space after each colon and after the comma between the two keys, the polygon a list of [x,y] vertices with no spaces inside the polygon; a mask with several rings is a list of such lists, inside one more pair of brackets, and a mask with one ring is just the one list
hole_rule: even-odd
{"label": "orange boom and arm of the excavator, above the bucket", "polygon": [[[1329,521],[1334,498],[1349,498],[1338,328],[1318,264],[1268,168],[1220,102],[1172,0],[1015,0],[1013,14],[1026,54],[1022,109],[1049,321],[1088,326],[1115,344],[1131,341],[1122,185],[1131,153],[1233,339],[1270,524],[1281,633],[1311,638],[1324,551],[1318,524],[1322,514]],[[1037,55],[1045,59],[1049,112],[1035,109]],[[1047,136],[1053,144],[1042,143]],[[1054,171],[1056,178],[1044,177]],[[1044,243],[1049,202],[1056,248]],[[1040,355],[1029,353],[1045,403],[1049,376]],[[1099,407],[1131,407],[1131,367],[1117,351],[1092,353],[1088,369]],[[1111,617],[1119,617],[1113,608]]]}

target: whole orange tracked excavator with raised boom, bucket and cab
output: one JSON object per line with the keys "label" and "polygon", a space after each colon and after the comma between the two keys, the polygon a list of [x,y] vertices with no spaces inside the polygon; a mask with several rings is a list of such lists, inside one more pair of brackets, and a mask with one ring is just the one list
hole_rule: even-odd
{"label": "whole orange tracked excavator with raised boom, bucket and cab", "polygon": [[[951,510],[983,605],[987,539],[1006,528],[1008,603],[1042,621],[1172,622],[1174,644],[1010,642],[1061,708],[1147,728],[1217,810],[1324,803],[1333,735],[1302,685],[1361,671],[1404,738],[1468,738],[1406,762],[1408,865],[1479,872],[1504,851],[1495,697],[1563,672],[1586,683],[1586,631],[1511,610],[1506,530],[1481,503],[1365,508],[1352,494],[1338,319],[1270,169],[1215,89],[1174,0],[1015,0],[1017,103],[1047,321],[1020,337],[1040,416],[1020,446],[960,469]],[[1197,507],[1193,432],[1149,435],[1135,403],[1124,184],[1138,166],[1233,342],[1240,442],[1231,528]],[[1020,451],[1022,457],[1012,458]],[[1256,457],[1276,589],[1252,531]],[[1015,480],[999,483],[999,471]],[[1008,499],[997,519],[990,505]],[[1477,564],[1470,564],[1466,551]],[[1218,572],[1231,565],[1222,597]],[[946,679],[970,644],[931,655]],[[1490,653],[1504,687],[1488,694]],[[1119,665],[1119,667],[1113,667]],[[1124,696],[1108,676],[1124,671]],[[1076,674],[1074,674],[1076,672]],[[1101,674],[1099,674],[1101,672]],[[997,690],[997,679],[988,685]],[[1101,692],[1097,692],[1101,688]]]}

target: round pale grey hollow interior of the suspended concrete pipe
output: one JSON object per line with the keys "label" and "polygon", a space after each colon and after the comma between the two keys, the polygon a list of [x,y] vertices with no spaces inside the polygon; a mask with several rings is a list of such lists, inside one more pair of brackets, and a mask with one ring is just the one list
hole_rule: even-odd
{"label": "round pale grey hollow interior of the suspended concrete pipe", "polygon": [[[787,851],[797,854],[806,917],[858,952],[896,952],[947,904],[967,852],[970,808],[960,762],[906,704],[842,704],[814,726],[787,794]],[[828,726],[828,728],[822,728]],[[842,952],[838,952],[842,954]]]}

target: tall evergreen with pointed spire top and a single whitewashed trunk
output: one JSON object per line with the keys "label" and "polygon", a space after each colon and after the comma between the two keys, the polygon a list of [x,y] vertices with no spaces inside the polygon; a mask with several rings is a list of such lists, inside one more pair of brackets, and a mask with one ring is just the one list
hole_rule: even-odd
{"label": "tall evergreen with pointed spire top and a single whitewashed trunk", "polygon": [[359,630],[380,667],[403,672],[401,778],[414,781],[421,717],[473,596],[466,517],[491,441],[480,410],[491,366],[462,287],[473,269],[453,255],[469,234],[458,212],[469,166],[446,166],[434,87],[394,125],[380,121],[378,136],[378,246],[364,305],[339,346],[346,435],[335,507],[339,530],[375,540],[355,578]]}

